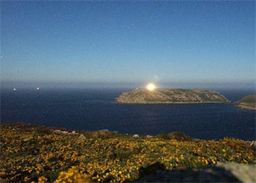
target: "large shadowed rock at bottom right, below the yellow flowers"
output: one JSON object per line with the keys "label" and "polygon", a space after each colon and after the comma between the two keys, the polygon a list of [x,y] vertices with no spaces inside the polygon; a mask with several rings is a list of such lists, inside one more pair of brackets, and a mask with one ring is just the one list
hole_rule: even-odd
{"label": "large shadowed rock at bottom right, below the yellow flowers", "polygon": [[256,182],[255,164],[218,163],[202,168],[157,171],[137,182]]}

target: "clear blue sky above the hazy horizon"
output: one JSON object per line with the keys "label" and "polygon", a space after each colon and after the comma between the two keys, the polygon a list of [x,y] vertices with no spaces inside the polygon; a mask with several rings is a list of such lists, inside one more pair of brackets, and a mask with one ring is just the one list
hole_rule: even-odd
{"label": "clear blue sky above the hazy horizon", "polygon": [[255,1],[1,1],[2,83],[255,83]]}

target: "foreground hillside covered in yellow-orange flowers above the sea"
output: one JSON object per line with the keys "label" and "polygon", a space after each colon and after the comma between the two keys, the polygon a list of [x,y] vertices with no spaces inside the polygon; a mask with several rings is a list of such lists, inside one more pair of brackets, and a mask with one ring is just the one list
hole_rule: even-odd
{"label": "foreground hillside covered in yellow-orange flowers above the sea", "polygon": [[150,181],[147,176],[157,170],[172,174],[220,162],[256,163],[250,142],[198,140],[181,132],[139,137],[1,123],[0,139],[1,182]]}

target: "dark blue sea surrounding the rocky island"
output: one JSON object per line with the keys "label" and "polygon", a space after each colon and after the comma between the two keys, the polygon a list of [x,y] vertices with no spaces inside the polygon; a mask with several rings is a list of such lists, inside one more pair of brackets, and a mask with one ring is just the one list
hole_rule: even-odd
{"label": "dark blue sea surrounding the rocky island", "polygon": [[[255,111],[231,104],[116,104],[124,89],[1,90],[1,122],[79,130],[156,135],[181,131],[193,138],[255,140]],[[218,90],[231,101],[252,90]]]}

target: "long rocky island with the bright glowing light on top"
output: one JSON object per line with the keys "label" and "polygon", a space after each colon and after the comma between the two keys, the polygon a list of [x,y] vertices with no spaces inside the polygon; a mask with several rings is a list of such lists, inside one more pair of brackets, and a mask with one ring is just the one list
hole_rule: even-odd
{"label": "long rocky island with the bright glowing light on top", "polygon": [[229,100],[216,91],[206,90],[141,90],[122,93],[117,103],[155,104],[155,103],[228,103]]}

